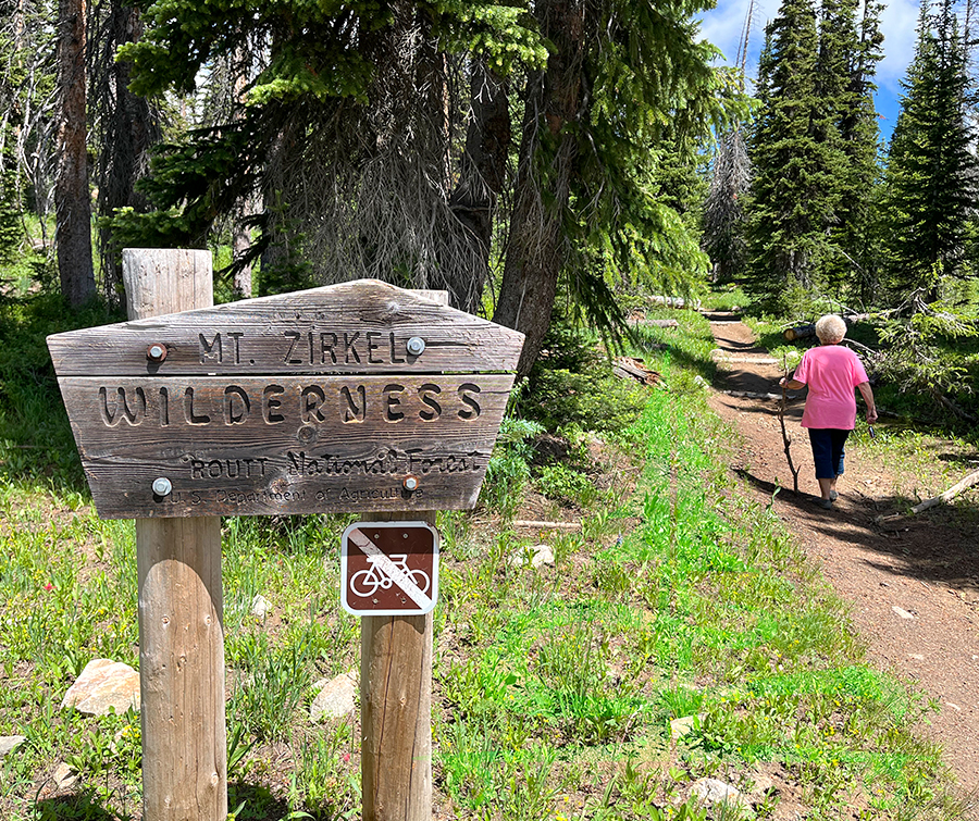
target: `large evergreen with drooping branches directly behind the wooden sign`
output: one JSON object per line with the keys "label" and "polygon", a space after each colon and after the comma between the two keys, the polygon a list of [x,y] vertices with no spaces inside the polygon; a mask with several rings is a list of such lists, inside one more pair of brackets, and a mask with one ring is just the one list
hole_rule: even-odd
{"label": "large evergreen with drooping branches directly behind the wooden sign", "polygon": [[[145,36],[121,50],[137,92],[191,90],[241,51],[256,72],[230,115],[161,148],[144,185],[153,210],[115,220],[127,244],[201,246],[258,194],[250,253],[262,254],[264,290],[295,287],[295,273],[374,276],[446,288],[470,307],[495,240],[496,319],[528,335],[524,372],[558,277],[608,329],[621,319],[610,285],[622,271],[676,287],[705,268],[666,204],[654,150],[669,128],[692,159],[696,138],[743,108],[696,38],[702,0],[140,8]],[[515,179],[506,121],[519,105]],[[494,229],[498,201],[507,232]],[[274,257],[286,275],[270,282]]]}

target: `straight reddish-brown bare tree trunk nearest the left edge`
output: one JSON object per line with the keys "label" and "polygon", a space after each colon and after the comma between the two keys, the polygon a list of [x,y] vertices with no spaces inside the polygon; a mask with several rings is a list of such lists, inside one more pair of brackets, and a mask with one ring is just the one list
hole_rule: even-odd
{"label": "straight reddish-brown bare tree trunk nearest the left edge", "polygon": [[58,271],[73,308],[96,294],[91,263],[91,200],[86,151],[85,0],[60,0],[58,9],[58,128],[55,177]]}

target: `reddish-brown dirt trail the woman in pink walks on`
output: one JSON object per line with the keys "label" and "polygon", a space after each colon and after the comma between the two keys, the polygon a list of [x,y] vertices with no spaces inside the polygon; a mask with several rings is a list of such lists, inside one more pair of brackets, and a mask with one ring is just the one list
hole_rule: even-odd
{"label": "reddish-brown dirt trail the woman in pink walks on", "polygon": [[[708,319],[718,348],[731,357],[768,356],[736,318],[716,313]],[[938,702],[924,732],[942,744],[962,786],[979,791],[979,528],[946,526],[941,510],[902,520],[891,530],[876,525],[877,515],[895,510],[900,468],[878,464],[854,445],[847,446],[835,508],[819,508],[808,438],[798,424],[802,399],[786,413],[793,460],[801,465],[800,493],[794,494],[779,403],[722,393],[778,393],[780,375],[778,365],[764,362],[720,364],[720,390],[711,405],[745,443],[732,469],[765,503],[776,483],[783,488],[776,512],[822,564],[838,595],[853,602],[852,618],[871,660],[917,682]]]}

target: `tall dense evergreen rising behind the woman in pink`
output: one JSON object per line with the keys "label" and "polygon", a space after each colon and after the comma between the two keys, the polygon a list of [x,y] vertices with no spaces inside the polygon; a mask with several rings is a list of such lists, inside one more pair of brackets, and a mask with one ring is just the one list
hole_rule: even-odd
{"label": "tall dense evergreen rising behind the woman in pink", "polygon": [[[853,291],[869,268],[876,174],[872,77],[880,7],[785,0],[766,32],[751,141],[749,287]],[[817,22],[818,21],[818,22]],[[818,35],[818,36],[817,36]]]}

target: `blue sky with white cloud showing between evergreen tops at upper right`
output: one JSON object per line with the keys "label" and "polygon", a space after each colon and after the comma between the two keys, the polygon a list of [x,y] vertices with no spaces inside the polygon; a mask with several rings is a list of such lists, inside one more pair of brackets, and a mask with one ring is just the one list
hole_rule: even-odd
{"label": "blue sky with white cloud showing between evergreen tops at upper right", "polygon": [[[780,0],[756,0],[755,22],[748,45],[747,73],[754,77],[758,70],[758,52],[764,41],[765,24],[779,10]],[[717,8],[704,15],[701,33],[717,46],[733,63],[738,42],[744,28],[748,0],[718,0]],[[904,78],[907,64],[914,57],[915,25],[918,22],[918,3],[910,0],[890,0],[881,14],[884,35],[884,58],[877,65],[877,113],[881,116],[881,136],[889,139],[897,120],[901,95],[899,83]]]}

